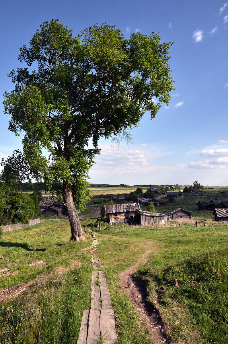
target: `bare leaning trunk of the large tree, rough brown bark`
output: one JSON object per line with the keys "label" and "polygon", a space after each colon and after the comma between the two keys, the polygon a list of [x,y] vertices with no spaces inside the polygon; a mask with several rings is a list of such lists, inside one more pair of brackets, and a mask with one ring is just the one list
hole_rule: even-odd
{"label": "bare leaning trunk of the large tree, rough brown bark", "polygon": [[71,226],[71,240],[76,240],[76,241],[85,240],[82,227],[79,221],[79,216],[77,214],[77,211],[74,205],[71,185],[64,181],[63,181],[63,202],[66,207],[66,213],[68,215],[70,226]]}

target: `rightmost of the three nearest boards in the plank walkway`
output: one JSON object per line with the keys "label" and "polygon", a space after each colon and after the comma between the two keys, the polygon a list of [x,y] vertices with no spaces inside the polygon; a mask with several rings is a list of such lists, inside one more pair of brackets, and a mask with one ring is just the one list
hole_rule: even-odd
{"label": "rightmost of the three nearest boards in the plank walkway", "polygon": [[105,344],[117,344],[117,335],[115,329],[115,319],[113,310],[101,310],[100,329],[101,336],[104,338]]}

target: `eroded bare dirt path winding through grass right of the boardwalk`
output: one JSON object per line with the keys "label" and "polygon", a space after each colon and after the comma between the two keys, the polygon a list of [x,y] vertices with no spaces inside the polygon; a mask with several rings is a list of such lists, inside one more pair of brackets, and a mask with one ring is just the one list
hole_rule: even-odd
{"label": "eroded bare dirt path winding through grass right of the boardwalk", "polygon": [[[142,281],[137,280],[137,278],[133,276],[134,272],[140,268],[140,265],[148,260],[151,252],[152,249],[146,251],[145,254],[141,256],[137,265],[131,266],[127,270],[121,272],[119,284],[123,287],[124,294],[129,297],[135,309],[141,314],[147,329],[151,332],[155,344],[170,343],[169,339],[166,337],[166,327],[162,323],[158,310],[153,303],[146,301],[146,286],[142,284]],[[156,302],[157,301],[155,301],[155,303]]]}

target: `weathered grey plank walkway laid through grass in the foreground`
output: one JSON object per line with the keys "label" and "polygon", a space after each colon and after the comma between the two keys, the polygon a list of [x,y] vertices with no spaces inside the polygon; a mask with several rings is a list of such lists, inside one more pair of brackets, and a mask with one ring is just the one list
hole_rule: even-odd
{"label": "weathered grey plank walkway laid through grass in the foreground", "polygon": [[[92,265],[99,264],[92,258]],[[96,267],[96,266],[95,266]],[[104,271],[93,271],[91,281],[91,309],[83,312],[77,344],[117,344],[115,318]]]}

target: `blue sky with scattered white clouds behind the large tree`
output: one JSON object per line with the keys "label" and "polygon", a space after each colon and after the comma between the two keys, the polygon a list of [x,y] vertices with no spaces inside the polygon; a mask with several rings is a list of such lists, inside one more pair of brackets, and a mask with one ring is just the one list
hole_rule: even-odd
{"label": "blue sky with scattered white clouds behind the large tree", "polygon": [[126,37],[159,32],[162,42],[174,42],[169,61],[176,90],[153,121],[146,113],[132,130],[133,143],[122,141],[118,149],[100,141],[91,182],[228,185],[228,2],[9,0],[0,16],[0,158],[22,149],[1,104],[3,93],[13,89],[7,74],[20,67],[19,48],[44,21],[58,18],[75,35],[106,22]]}

